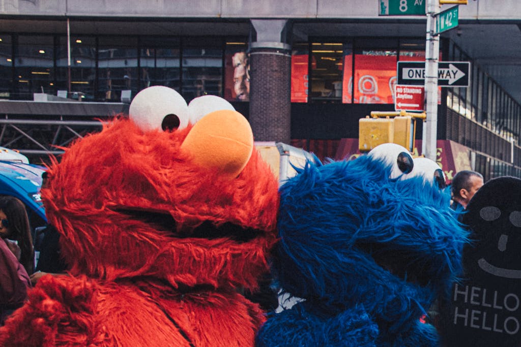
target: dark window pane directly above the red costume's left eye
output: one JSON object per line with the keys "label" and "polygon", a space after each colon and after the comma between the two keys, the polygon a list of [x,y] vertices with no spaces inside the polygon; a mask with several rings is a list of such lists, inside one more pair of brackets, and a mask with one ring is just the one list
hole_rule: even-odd
{"label": "dark window pane directly above the red costume's left eye", "polygon": [[140,49],[140,89],[164,85],[180,92],[180,65],[178,38],[143,38]]}

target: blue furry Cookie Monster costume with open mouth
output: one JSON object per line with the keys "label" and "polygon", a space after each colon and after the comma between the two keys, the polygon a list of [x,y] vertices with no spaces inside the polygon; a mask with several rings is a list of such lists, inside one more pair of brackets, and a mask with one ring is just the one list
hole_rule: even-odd
{"label": "blue furry Cookie Monster costume with open mouth", "polygon": [[386,144],[281,186],[273,269],[303,301],[270,315],[257,346],[439,345],[421,318],[461,271],[467,235],[436,173],[413,167]]}

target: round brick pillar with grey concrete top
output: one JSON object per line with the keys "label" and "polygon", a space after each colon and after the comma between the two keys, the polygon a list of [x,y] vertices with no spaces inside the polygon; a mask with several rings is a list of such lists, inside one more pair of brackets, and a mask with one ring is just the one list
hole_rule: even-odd
{"label": "round brick pillar with grey concrete top", "polygon": [[256,141],[291,141],[291,47],[280,37],[286,22],[252,19],[249,120]]}

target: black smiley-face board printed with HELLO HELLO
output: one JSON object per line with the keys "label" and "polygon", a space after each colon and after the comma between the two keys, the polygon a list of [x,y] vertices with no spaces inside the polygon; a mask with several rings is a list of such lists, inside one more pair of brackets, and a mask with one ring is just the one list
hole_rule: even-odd
{"label": "black smiley-face board printed with HELLO HELLO", "polygon": [[463,215],[464,273],[440,305],[446,347],[521,345],[521,179],[483,185]]}

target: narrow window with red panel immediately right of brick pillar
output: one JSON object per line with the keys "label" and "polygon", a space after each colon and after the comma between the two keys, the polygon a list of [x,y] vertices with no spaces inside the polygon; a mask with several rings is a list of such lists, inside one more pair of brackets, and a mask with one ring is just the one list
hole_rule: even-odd
{"label": "narrow window with red panel immediately right of brick pillar", "polygon": [[291,102],[307,102],[309,93],[309,45],[294,43],[291,52]]}

